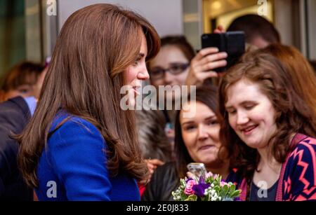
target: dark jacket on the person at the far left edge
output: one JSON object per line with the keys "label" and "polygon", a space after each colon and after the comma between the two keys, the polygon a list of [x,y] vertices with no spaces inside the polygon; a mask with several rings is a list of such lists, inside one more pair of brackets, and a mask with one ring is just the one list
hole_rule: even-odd
{"label": "dark jacket on the person at the far left edge", "polygon": [[0,200],[32,200],[18,170],[18,142],[11,138],[22,132],[30,116],[22,97],[0,104]]}

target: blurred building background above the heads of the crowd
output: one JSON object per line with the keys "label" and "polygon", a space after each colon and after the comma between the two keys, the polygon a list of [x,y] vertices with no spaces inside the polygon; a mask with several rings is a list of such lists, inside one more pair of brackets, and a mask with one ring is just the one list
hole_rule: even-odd
{"label": "blurred building background above the heads of the crowd", "polygon": [[132,9],[160,36],[184,34],[196,49],[200,36],[216,26],[226,29],[244,14],[263,15],[282,43],[316,60],[316,0],[0,0],[0,76],[22,60],[44,62],[68,16],[96,3]]}

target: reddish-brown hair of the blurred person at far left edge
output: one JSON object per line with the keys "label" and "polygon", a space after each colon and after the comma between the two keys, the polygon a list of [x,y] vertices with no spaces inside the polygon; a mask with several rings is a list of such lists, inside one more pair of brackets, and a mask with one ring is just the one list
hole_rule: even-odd
{"label": "reddish-brown hair of the blurred person at far left edge", "polygon": [[43,65],[34,62],[16,64],[0,78],[0,94],[16,90],[21,85],[35,85],[43,70]]}

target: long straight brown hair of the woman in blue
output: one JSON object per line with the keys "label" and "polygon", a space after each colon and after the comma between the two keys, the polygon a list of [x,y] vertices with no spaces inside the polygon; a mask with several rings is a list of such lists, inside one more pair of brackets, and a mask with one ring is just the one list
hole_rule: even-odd
{"label": "long straight brown hair of the woman in blue", "polygon": [[140,180],[147,165],[140,155],[132,111],[120,109],[123,71],[136,62],[141,34],[150,59],[159,36],[147,20],[110,4],[73,13],[62,27],[44,80],[37,110],[20,135],[18,163],[29,186],[37,186],[37,165],[58,110],[95,125],[107,141],[112,176],[124,171]]}

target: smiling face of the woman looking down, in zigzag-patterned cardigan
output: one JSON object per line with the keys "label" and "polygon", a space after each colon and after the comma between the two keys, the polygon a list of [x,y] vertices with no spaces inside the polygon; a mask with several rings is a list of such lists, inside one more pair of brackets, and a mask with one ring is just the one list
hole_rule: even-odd
{"label": "smiling face of the woman looking down, in zigzag-patterned cardigan", "polygon": [[228,87],[225,109],[230,126],[251,148],[265,148],[277,130],[275,109],[258,83],[241,79]]}

